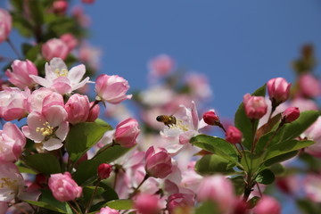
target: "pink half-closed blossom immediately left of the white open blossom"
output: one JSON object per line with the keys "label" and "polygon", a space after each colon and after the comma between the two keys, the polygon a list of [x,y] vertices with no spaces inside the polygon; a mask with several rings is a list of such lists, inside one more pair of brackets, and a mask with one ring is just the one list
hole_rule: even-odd
{"label": "pink half-closed blossom immediately left of the white open blossom", "polygon": [[8,77],[8,80],[20,89],[25,87],[32,88],[36,85],[36,82],[29,78],[29,75],[38,75],[37,67],[33,62],[29,60],[20,61],[15,60],[12,62],[12,71],[6,70],[5,75]]}

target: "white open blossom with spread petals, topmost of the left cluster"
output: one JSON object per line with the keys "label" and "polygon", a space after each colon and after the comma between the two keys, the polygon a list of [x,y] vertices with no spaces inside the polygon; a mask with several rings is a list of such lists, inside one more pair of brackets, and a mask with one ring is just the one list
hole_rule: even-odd
{"label": "white open blossom with spread petals, topmost of the left cluster", "polygon": [[50,63],[45,63],[45,78],[30,75],[37,84],[52,89],[59,94],[71,93],[90,82],[89,77],[81,81],[85,75],[85,65],[80,64],[67,69],[66,64],[60,58],[53,58]]}

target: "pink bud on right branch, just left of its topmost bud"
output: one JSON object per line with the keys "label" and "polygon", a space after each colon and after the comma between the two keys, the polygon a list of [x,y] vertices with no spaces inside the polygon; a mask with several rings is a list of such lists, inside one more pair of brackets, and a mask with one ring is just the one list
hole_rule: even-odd
{"label": "pink bud on right branch, just left of its topmost bud", "polygon": [[263,96],[246,94],[243,96],[243,104],[245,113],[250,119],[260,119],[268,111],[268,105]]}

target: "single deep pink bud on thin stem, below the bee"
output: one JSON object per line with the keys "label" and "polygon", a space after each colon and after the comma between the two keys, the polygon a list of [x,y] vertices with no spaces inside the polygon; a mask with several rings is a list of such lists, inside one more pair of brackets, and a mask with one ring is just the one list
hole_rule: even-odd
{"label": "single deep pink bud on thin stem, below the bee", "polygon": [[171,158],[164,148],[149,147],[145,159],[145,169],[151,177],[165,178],[172,172]]}

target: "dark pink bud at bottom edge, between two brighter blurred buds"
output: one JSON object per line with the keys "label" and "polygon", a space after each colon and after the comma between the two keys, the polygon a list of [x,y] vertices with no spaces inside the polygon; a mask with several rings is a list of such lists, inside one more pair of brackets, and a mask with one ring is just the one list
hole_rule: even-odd
{"label": "dark pink bud at bottom edge, between two brighter blurred buds", "polygon": [[175,213],[174,210],[181,207],[193,207],[194,194],[174,193],[169,196],[167,209],[169,213]]}

